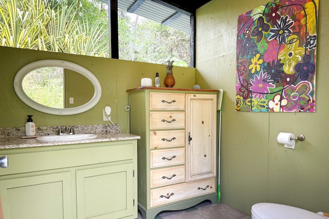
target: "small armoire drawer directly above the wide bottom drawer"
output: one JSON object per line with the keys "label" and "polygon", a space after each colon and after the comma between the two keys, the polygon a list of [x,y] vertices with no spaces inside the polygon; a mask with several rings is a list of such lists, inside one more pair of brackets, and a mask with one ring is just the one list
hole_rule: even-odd
{"label": "small armoire drawer directly above the wide bottom drawer", "polygon": [[185,166],[170,167],[150,172],[151,188],[185,182]]}

